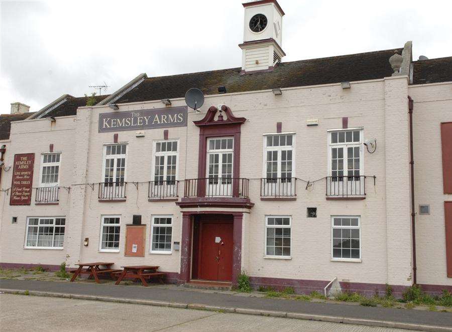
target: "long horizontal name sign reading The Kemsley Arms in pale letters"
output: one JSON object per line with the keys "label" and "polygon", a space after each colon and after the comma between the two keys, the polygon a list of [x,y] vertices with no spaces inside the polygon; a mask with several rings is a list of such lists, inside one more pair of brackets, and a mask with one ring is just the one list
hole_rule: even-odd
{"label": "long horizontal name sign reading The Kemsley Arms in pale letters", "polygon": [[99,114],[99,133],[187,126],[187,106]]}

